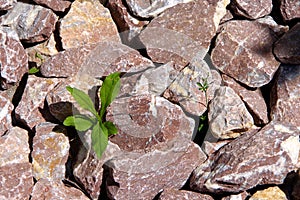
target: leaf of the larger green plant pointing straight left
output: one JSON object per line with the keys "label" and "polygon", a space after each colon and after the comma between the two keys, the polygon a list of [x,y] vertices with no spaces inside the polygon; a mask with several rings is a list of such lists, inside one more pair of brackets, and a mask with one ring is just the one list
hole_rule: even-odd
{"label": "leaf of the larger green plant pointing straight left", "polygon": [[78,131],[86,131],[93,126],[93,120],[85,115],[69,116],[64,120],[65,126],[74,126]]}

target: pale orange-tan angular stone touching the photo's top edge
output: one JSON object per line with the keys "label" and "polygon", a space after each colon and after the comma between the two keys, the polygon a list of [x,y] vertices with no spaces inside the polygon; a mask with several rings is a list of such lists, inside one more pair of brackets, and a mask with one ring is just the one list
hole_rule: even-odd
{"label": "pale orange-tan angular stone touching the photo's top edge", "polygon": [[74,1],[61,20],[59,32],[64,49],[101,41],[121,42],[109,10],[97,0]]}

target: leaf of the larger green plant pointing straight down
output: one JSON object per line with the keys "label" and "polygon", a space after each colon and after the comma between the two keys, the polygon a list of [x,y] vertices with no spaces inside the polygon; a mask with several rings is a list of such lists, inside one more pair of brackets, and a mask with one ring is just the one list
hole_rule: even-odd
{"label": "leaf of the larger green plant pointing straight down", "polygon": [[92,147],[100,159],[108,145],[108,130],[102,123],[97,123],[92,130]]}

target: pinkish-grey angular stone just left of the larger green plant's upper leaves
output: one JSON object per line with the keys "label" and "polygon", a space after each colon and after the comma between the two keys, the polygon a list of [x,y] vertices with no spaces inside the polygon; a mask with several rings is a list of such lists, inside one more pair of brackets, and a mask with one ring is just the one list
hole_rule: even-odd
{"label": "pinkish-grey angular stone just left of the larger green plant's upper leaves", "polygon": [[29,76],[19,105],[16,107],[16,119],[33,128],[35,125],[45,122],[47,110],[44,103],[46,95],[60,82],[55,78],[40,78]]}

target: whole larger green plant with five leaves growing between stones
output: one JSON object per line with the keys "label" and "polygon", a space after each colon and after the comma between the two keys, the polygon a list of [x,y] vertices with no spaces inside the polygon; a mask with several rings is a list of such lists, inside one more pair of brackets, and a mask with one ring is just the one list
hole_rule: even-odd
{"label": "whole larger green plant with five leaves growing between stones", "polygon": [[101,107],[99,112],[96,111],[91,98],[79,89],[67,86],[67,90],[74,97],[76,102],[85,110],[89,111],[92,116],[73,115],[64,120],[65,126],[74,126],[78,131],[92,130],[92,148],[101,158],[108,144],[108,137],[118,133],[116,126],[104,120],[107,107],[117,97],[120,91],[120,73],[115,72],[105,78],[100,89]]}

